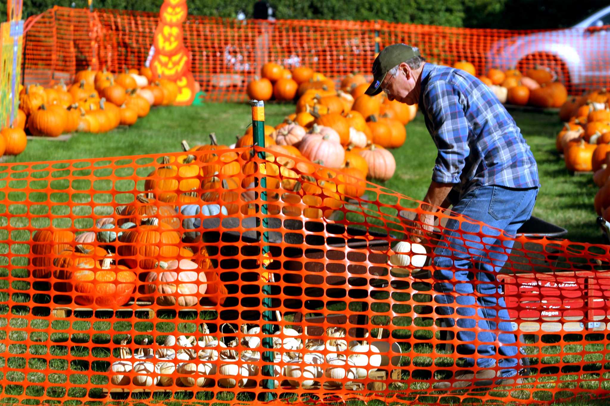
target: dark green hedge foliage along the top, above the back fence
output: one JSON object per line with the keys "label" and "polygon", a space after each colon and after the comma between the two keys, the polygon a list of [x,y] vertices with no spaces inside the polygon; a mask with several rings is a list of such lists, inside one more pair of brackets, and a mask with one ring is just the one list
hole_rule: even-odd
{"label": "dark green hedge foliage along the top, above the back fence", "polygon": [[[604,0],[270,0],[276,18],[382,19],[397,23],[451,27],[543,29],[569,27],[605,7]],[[99,9],[157,12],[162,0],[93,0]],[[252,16],[254,0],[188,0],[189,13],[235,18],[242,10]],[[50,9],[87,7],[87,0],[23,0],[24,15]],[[0,21],[6,20],[6,1],[0,1]]]}

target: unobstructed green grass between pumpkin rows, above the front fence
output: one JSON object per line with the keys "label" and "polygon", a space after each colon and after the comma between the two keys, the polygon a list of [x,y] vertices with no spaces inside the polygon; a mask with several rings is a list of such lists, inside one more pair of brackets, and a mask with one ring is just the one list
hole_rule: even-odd
{"label": "unobstructed green grass between pumpkin rows, above the front fence", "polygon": [[[293,105],[270,104],[265,108],[268,124],[276,125]],[[593,200],[597,186],[590,175],[569,175],[564,162],[555,152],[554,139],[561,129],[555,114],[512,112],[534,152],[539,165],[542,189],[534,215],[568,230],[568,239],[577,242],[602,243]],[[201,107],[154,108],[149,116],[131,128],[118,128],[107,134],[77,133],[69,141],[29,141],[24,153],[7,162],[99,158],[104,156],[142,155],[176,152],[186,139],[190,145],[208,143],[207,135],[215,132],[219,142],[232,144],[251,122],[246,104],[207,103]],[[383,186],[415,199],[425,195],[436,158],[436,149],[421,114],[407,125],[407,141],[392,150],[397,173]]]}

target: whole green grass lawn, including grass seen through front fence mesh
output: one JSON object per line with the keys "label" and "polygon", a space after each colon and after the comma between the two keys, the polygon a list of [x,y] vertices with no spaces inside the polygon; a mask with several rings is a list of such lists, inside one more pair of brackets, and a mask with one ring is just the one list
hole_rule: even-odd
{"label": "whole green grass lawn, including grass seen through front fence mesh", "polygon": [[[284,116],[293,111],[293,108],[292,105],[269,105],[266,108],[268,124],[278,124],[284,119]],[[554,136],[561,127],[558,118],[555,115],[525,112],[514,113],[514,117],[528,139],[540,167],[543,187],[538,197],[534,215],[567,228],[569,238],[572,240],[600,243],[601,234],[595,226],[593,209],[593,198],[597,187],[592,183],[590,176],[570,176],[564,168],[563,161],[554,152]],[[250,108],[245,104],[206,104],[203,107],[156,108],[151,111],[148,117],[139,121],[132,128],[119,128],[103,135],[77,134],[66,142],[41,139],[29,141],[26,152],[15,159],[10,159],[9,162],[32,162],[45,159],[61,161],[76,158],[176,152],[180,150],[180,142],[183,139],[191,145],[207,143],[207,135],[210,132],[217,134],[218,141],[231,144],[234,142],[236,135],[243,133],[250,121]],[[421,116],[407,125],[407,142],[400,149],[393,150],[393,153],[397,159],[398,170],[395,176],[384,183],[383,186],[409,197],[422,198],[429,184],[436,150]],[[2,182],[5,184],[4,180]],[[60,183],[58,180],[56,186]],[[72,184],[73,187],[74,184]],[[104,203],[109,203],[109,201]],[[84,208],[87,208],[87,206],[85,205]],[[57,211],[54,214],[65,215],[66,213]],[[73,214],[84,215],[84,212],[74,211]],[[15,223],[13,226],[23,225]],[[5,232],[5,230],[0,231]],[[19,230],[19,232],[22,232],[22,230]],[[16,233],[15,235],[19,234]],[[15,237],[12,237],[15,240]],[[7,239],[7,235],[0,234],[0,240],[5,239]],[[27,241],[27,237],[23,240]],[[27,250],[27,248],[18,247],[16,251],[18,250]],[[23,254],[24,252],[27,251],[16,253]],[[15,257],[12,260],[12,265],[15,267],[11,275],[13,279],[27,278],[28,271],[24,268],[18,268],[27,265],[25,260],[24,257]],[[1,265],[5,266],[7,264]],[[197,335],[201,332],[199,330],[200,323],[218,318],[218,313],[213,311],[170,311],[157,313],[157,317],[165,318],[167,322],[152,323],[148,320],[148,312],[126,309],[117,312],[115,315],[112,312],[98,312],[95,317],[93,312],[80,311],[74,313],[76,319],[73,321],[53,320],[52,317],[49,317],[49,306],[52,306],[49,295],[43,293],[34,295],[30,301],[29,293],[24,292],[30,290],[29,282],[13,280],[13,284],[10,286],[12,290],[9,291],[7,276],[9,276],[7,268],[1,269],[0,303],[7,301],[10,292],[13,302],[22,302],[23,306],[13,306],[10,309],[5,305],[0,306],[2,314],[10,312],[10,317],[0,318],[0,323],[5,323],[4,325],[0,324],[0,341],[6,341],[7,338],[10,340],[9,348],[0,348],[0,353],[4,352],[2,354],[4,356],[0,357],[0,365],[7,363],[12,368],[23,369],[26,366],[26,358],[20,356],[20,354],[24,354],[26,351],[29,351],[30,355],[46,354],[51,358],[47,363],[42,357],[29,357],[27,367],[40,372],[29,372],[27,376],[20,371],[7,373],[5,381],[14,382],[14,384],[5,385],[2,388],[2,397],[4,399],[9,397],[8,402],[15,399],[12,396],[20,396],[23,393],[30,397],[28,404],[39,404],[40,401],[36,398],[43,395],[56,397],[58,400],[63,396],[89,396],[93,399],[102,397],[99,387],[93,388],[87,393],[79,385],[84,385],[87,382],[93,385],[105,385],[108,382],[109,377],[106,371],[110,362],[107,357],[110,351],[113,351],[112,348],[119,345],[120,341],[126,338],[128,334],[131,335],[131,340],[136,344],[142,343],[146,338],[151,341],[153,335],[156,337],[157,343],[162,343],[166,334]],[[409,300],[409,304],[397,304],[398,307],[394,307],[393,311],[410,312],[411,297],[408,293],[395,293],[398,296],[393,296],[394,299],[397,301]],[[418,301],[417,296],[416,294],[412,298],[414,302]],[[429,295],[422,294],[422,296]],[[375,292],[371,293],[371,298],[378,298],[375,296]],[[379,297],[379,299],[387,299],[387,297]],[[429,301],[430,299],[422,297],[422,306]],[[331,309],[332,311],[346,310],[345,302],[336,302],[342,303],[341,306],[343,307],[337,305],[336,308]],[[354,310],[352,304],[354,303],[350,303],[350,310]],[[387,312],[387,309],[382,310],[382,306],[387,306],[387,303],[373,303],[371,304],[371,310]],[[414,306],[419,305],[415,304]],[[384,321],[386,324],[390,322],[387,316],[378,317],[379,320],[373,318],[371,322],[382,324],[381,318],[386,318]],[[420,370],[429,368],[431,358],[426,354],[431,354],[434,348],[430,343],[415,341],[432,338],[431,318],[418,317],[412,320],[410,317],[402,317],[401,319],[403,320],[401,323],[404,323],[396,323],[396,325],[409,327],[395,331],[398,334],[403,334],[395,338],[403,340],[403,351],[407,352],[401,360],[401,366],[413,365]],[[409,320],[407,321],[407,319]],[[69,327],[75,331],[74,334],[65,332]],[[32,329],[29,334],[25,331],[27,328]],[[371,334],[374,334],[374,331]],[[413,345],[406,343],[406,340],[412,337],[415,338],[413,340],[415,343]],[[603,351],[603,343],[605,343],[603,335],[601,335],[601,338],[590,338],[590,341],[597,342],[588,344],[586,348],[583,348],[580,342],[574,345],[564,345],[569,341],[582,341],[582,338],[570,340],[569,337],[565,337],[564,340],[558,338],[558,341],[547,342],[543,351],[544,356],[540,355],[540,362],[549,365],[559,362],[574,363],[580,360],[582,352],[585,351],[592,352],[592,354],[584,355],[583,360],[589,363],[587,365],[594,365],[595,363],[601,365],[601,360],[598,357],[601,356],[600,351]],[[561,345],[564,345],[563,348],[561,348]],[[567,354],[563,355],[564,359],[559,358],[558,354],[561,351]],[[87,357],[90,361],[87,360]],[[453,362],[453,357],[437,357],[435,367],[437,367],[436,369],[451,368]],[[434,369],[434,367],[432,368]],[[604,368],[608,369],[610,365],[605,365]],[[48,369],[48,371],[43,374],[41,371],[44,369]],[[554,385],[558,388],[574,391],[578,391],[578,388],[594,389],[600,376],[603,379],[610,377],[610,373],[605,372],[605,370],[593,370],[597,372],[586,373],[583,369],[582,373],[566,373],[561,377],[549,376],[548,382],[544,380],[545,377],[539,377],[538,382],[526,382],[526,384],[529,385],[528,388],[539,389],[533,397],[534,400],[547,401],[550,399],[548,397],[550,392],[544,390],[554,387]],[[84,371],[89,372],[84,374]],[[406,374],[406,371],[403,374]],[[408,378],[409,376],[403,375],[403,379]],[[26,379],[29,383],[21,385],[20,383]],[[443,379],[442,372],[438,374],[435,372],[434,379]],[[588,379],[590,382],[575,382],[577,379]],[[68,390],[66,390],[65,387],[57,385],[65,382],[70,382],[74,387],[68,387]],[[409,396],[420,394],[417,392],[418,390],[423,391],[429,388],[428,382],[395,383],[392,385],[392,390],[407,393]],[[608,390],[609,388],[603,387],[603,389]],[[192,401],[199,402],[198,404],[201,405],[226,405],[229,404],[227,402],[253,400],[248,393],[240,393],[237,399],[234,399],[234,394],[228,391],[220,392],[215,397],[212,392],[201,390],[201,388],[191,388],[191,390],[182,392],[184,393],[175,394],[174,399],[192,399]],[[460,393],[459,390],[456,393]],[[492,394],[493,396],[511,399],[508,388],[495,388]],[[526,391],[512,394],[518,399],[527,399],[526,395],[529,396]],[[434,396],[435,393],[432,392],[431,395]],[[159,393],[155,399],[162,400],[164,396],[164,394]],[[135,399],[137,399],[137,396]],[[74,401],[72,404],[77,405],[79,403]],[[87,402],[87,404],[98,405],[95,402]],[[362,406],[363,404],[364,402],[350,402],[350,406]],[[370,406],[379,404],[381,402],[368,402]],[[400,403],[394,403],[394,405],[398,404]],[[564,405],[580,406],[587,404],[589,404],[588,401],[574,401]]]}

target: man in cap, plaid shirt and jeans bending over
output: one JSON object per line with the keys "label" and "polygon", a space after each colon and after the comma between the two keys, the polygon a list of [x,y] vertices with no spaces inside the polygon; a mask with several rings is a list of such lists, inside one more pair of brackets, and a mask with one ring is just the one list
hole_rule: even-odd
{"label": "man in cap, plaid shirt and jeans bending over", "polygon": [[[366,94],[382,91],[389,100],[419,104],[437,148],[431,184],[421,205],[425,212],[411,223],[411,240],[422,242],[434,229],[433,213],[450,205],[454,212],[490,226],[451,217],[434,248],[434,301],[441,305],[434,310],[440,316],[437,326],[457,324],[464,329],[457,329],[455,349],[448,346],[460,355],[454,378],[461,382],[453,386],[472,385],[466,382],[470,379],[481,379],[477,386],[494,380],[501,384],[527,373],[518,366],[516,355],[523,354],[523,348],[515,345],[517,326],[509,321],[495,273],[508,260],[514,242],[500,234],[515,236],[531,217],[540,187],[529,145],[489,86],[459,69],[427,63],[415,47],[393,44],[375,58],[373,83]],[[468,318],[475,312],[478,323]],[[445,333],[441,339],[453,339],[451,331],[440,332]],[[492,369],[496,352],[497,376]],[[478,354],[476,363],[474,354]],[[527,359],[523,361],[526,365]],[[450,385],[440,383],[445,388]]]}

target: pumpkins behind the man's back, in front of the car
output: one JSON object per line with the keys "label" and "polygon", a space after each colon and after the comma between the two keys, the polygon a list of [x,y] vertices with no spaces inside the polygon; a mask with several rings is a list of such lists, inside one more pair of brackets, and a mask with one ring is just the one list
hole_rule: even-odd
{"label": "pumpkins behind the man's back, in front of the car", "polygon": [[[457,61],[453,68],[476,76],[475,66],[468,61]],[[561,107],[568,97],[565,86],[554,81],[553,74],[544,66],[528,69],[525,75],[517,69],[503,71],[492,68],[478,78],[490,86],[493,94],[503,104],[557,108]]]}

